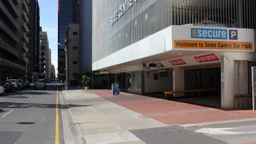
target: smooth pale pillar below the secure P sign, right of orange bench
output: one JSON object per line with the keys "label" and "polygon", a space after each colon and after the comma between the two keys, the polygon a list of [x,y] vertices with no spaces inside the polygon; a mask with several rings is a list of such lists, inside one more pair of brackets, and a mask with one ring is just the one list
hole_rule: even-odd
{"label": "smooth pale pillar below the secure P sign, right of orange bench", "polygon": [[225,56],[221,56],[222,76],[221,108],[234,108],[234,60],[228,60]]}

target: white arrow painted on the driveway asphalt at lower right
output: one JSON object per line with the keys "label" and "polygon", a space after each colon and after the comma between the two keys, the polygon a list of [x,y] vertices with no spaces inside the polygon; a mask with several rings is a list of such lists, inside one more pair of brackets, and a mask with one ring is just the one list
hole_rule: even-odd
{"label": "white arrow painted on the driveway asphalt at lower right", "polygon": [[206,133],[206,134],[218,134],[218,135],[239,135],[239,134],[255,134],[256,131],[251,132],[234,132],[234,131],[225,131],[225,130],[232,130],[237,128],[202,128],[196,130],[195,132],[198,133]]}

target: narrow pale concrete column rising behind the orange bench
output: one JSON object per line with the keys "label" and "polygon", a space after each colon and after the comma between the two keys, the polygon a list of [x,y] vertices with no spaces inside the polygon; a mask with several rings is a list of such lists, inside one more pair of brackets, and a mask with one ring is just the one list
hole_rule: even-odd
{"label": "narrow pale concrete column rising behind the orange bench", "polygon": [[[175,67],[172,73],[173,75],[173,91],[183,91],[185,87],[184,70],[180,70],[180,67]],[[173,94],[176,97],[176,94]],[[185,93],[179,93],[178,96],[185,96]]]}

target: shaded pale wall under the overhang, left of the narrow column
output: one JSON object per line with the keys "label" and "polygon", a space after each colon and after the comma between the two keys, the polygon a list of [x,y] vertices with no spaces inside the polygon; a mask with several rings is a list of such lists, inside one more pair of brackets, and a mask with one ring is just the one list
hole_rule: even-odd
{"label": "shaded pale wall under the overhang, left of the narrow column", "polygon": [[[158,80],[154,80],[154,74],[158,74]],[[173,90],[172,71],[168,71],[168,77],[159,77],[159,75],[160,73],[150,73],[150,78],[147,78],[145,71],[145,93]]]}

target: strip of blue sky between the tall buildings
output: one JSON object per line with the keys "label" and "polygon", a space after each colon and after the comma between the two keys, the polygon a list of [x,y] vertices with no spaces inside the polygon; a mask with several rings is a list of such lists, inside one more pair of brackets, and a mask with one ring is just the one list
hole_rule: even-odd
{"label": "strip of blue sky between the tall buildings", "polygon": [[57,76],[58,67],[58,0],[38,0],[40,8],[40,27],[47,32],[49,48],[52,50],[52,65]]}

